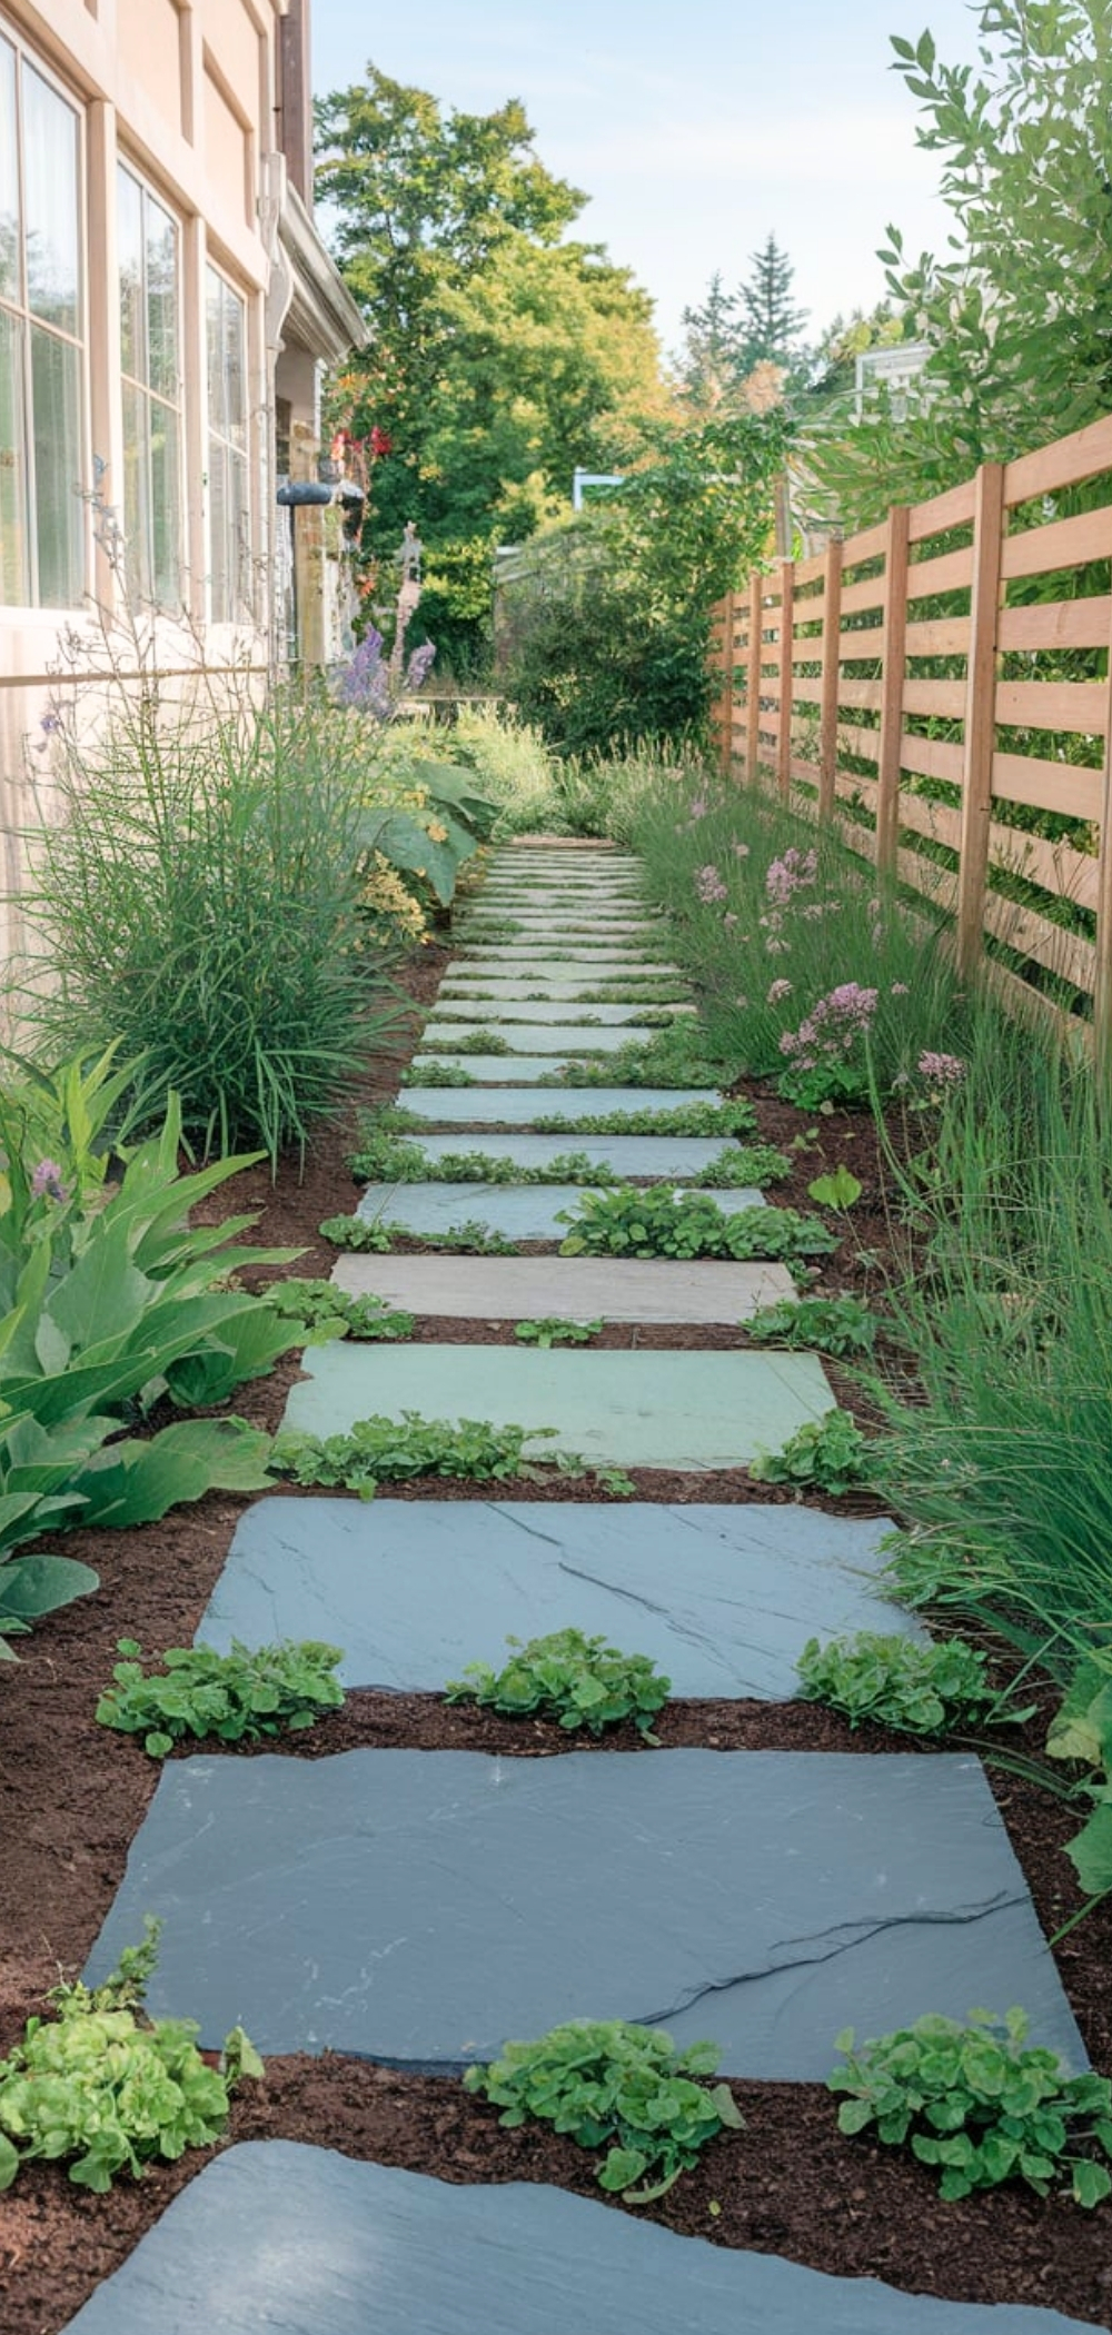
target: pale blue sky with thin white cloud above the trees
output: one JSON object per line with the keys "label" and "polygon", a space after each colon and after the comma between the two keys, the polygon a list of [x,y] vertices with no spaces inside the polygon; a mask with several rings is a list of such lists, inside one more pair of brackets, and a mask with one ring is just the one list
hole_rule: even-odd
{"label": "pale blue sky with thin white cloud above the trees", "polygon": [[944,245],[939,156],[890,70],[888,35],[925,26],[946,63],[977,58],[967,0],[313,0],[313,84],[371,61],[463,112],[521,98],[540,159],[591,194],[572,234],[633,269],[673,350],[682,308],[769,234],[815,336],[883,297],[890,219],[916,257]]}

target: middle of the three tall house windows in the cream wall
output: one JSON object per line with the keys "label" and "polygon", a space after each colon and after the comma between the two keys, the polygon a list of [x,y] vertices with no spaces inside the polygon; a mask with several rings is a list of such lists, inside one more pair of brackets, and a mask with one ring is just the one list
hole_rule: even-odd
{"label": "middle of the three tall house windows in the cream wall", "polygon": [[157,607],[182,600],[182,378],[178,222],[117,170],[124,539],[128,581]]}

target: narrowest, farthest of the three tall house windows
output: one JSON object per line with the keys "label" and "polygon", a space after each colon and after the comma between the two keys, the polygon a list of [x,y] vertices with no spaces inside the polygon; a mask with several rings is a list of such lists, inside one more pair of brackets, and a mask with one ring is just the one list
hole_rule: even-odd
{"label": "narrowest, farthest of the three tall house windows", "polygon": [[208,588],[213,623],[250,619],[248,308],[206,271]]}

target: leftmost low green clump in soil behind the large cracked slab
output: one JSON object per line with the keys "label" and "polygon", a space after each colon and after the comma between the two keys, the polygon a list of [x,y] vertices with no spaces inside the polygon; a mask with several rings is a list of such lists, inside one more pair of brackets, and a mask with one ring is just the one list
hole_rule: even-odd
{"label": "leftmost low green clump in soil behind the large cracked slab", "polygon": [[96,1719],[119,1735],[143,1735],[152,1758],[166,1758],[185,1735],[238,1744],[311,1728],[343,1702],[332,1677],[341,1649],[313,1639],[257,1649],[234,1639],[231,1653],[171,1646],[161,1672],[143,1670],[143,1646],[133,1637],[117,1639],[117,1653],[124,1660],[112,1670],[114,1684],[100,1695]]}

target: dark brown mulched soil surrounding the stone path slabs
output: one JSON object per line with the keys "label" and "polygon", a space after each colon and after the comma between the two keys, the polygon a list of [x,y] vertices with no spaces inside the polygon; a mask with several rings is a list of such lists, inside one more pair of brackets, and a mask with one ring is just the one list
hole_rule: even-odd
{"label": "dark brown mulched soil surrounding the stone path slabs", "polygon": [[[442,964],[444,950],[428,950],[416,967],[413,995],[421,1002],[435,995]],[[390,1095],[397,1067],[397,1058],[371,1065],[362,1100]],[[762,1139],[787,1146],[799,1132],[799,1114],[764,1093],[755,1100]],[[825,1266],[815,1287],[876,1291],[892,1231],[899,1238],[883,1205],[876,1139],[864,1121],[846,1114],[815,1121],[815,1149],[799,1156],[792,1186],[780,1186],[776,1198],[811,1207],[806,1184],[846,1160],[864,1193],[850,1219],[850,1240]],[[304,1163],[301,1177],[297,1163],[283,1168],[276,1184],[266,1172],[248,1170],[215,1196],[208,1214],[257,1207],[252,1240],[301,1247],[306,1254],[292,1270],[329,1273],[334,1252],[320,1240],[318,1224],[350,1212],[353,1182],[343,1168],[350,1139],[350,1121],[329,1130]],[[869,1252],[876,1252],[876,1263]],[[418,1338],[509,1343],[512,1326],[423,1319]],[[745,1336],[607,1329],[598,1343],[638,1343],[652,1350],[738,1347]],[[850,1380],[832,1375],[839,1396],[853,1399],[860,1410]],[[236,1410],[273,1429],[294,1378],[297,1361],[290,1361],[271,1380],[241,1389]],[[635,1490],[640,1499],[656,1501],[790,1497],[752,1485],[743,1471],[699,1478],[635,1471]],[[390,1487],[388,1497],[561,1501],[607,1494],[589,1478],[542,1476],[500,1485],[425,1480]],[[47,1987],[84,1964],[157,1786],[157,1763],[133,1740],[110,1735],[93,1721],[114,1642],[138,1637],[150,1651],[189,1642],[243,1506],[243,1499],[210,1494],[138,1532],[70,1534],[65,1548],[96,1564],[100,1590],[44,1620],[21,1644],[19,1667],[9,1665],[5,1672],[0,2048],[12,2048],[21,2036],[26,2017],[42,2008]],[[839,1513],[876,1508],[860,1499],[839,1504]],[[656,1733],[673,1749],[691,1744],[857,1756],[913,1749],[906,1737],[883,1730],[850,1733],[834,1714],[801,1702],[675,1702],[659,1716]],[[589,1747],[551,1723],[505,1721],[474,1707],[449,1707],[437,1695],[362,1691],[311,1735],[287,1740],[283,1754],[322,1758],[355,1744],[449,1747],[528,1758]],[[1040,1744],[1037,1721],[1007,1735],[1007,1749],[1023,1749],[1033,1758]],[[598,1747],[598,1756],[619,1749],[654,1756],[633,1730],[619,1730]],[[988,1777],[1042,1926],[1054,1933],[1079,1905],[1072,1866],[1063,1854],[1077,1817],[1005,1768],[988,1765]],[[1056,1961],[1093,2064],[1112,2066],[1112,1903],[1056,1947]],[[731,2090],[745,2130],[713,2141],[701,2165],[668,2197],[645,2209],[654,2221],[722,2246],[780,2253],[841,2277],[885,2279],[951,2300],[1042,2305],[1110,2326],[1112,2209],[1082,2214],[1019,2188],[941,2204],[932,2179],[916,2162],[862,2139],[841,2139],[834,2102],[822,2085],[734,2083]],[[271,2059],[264,2083],[243,2087],[229,2141],[271,2137],[313,2141],[444,2181],[551,2181],[584,2197],[603,2197],[591,2158],[572,2141],[544,2127],[502,2132],[498,2111],[465,2094],[456,2080],[406,2076],[348,2057]],[[182,2165],[150,2172],[140,2183],[121,2181],[110,2200],[75,2190],[56,2167],[21,2172],[16,2188],[0,2197],[2,2335],[58,2335],[203,2162],[203,2155],[189,2155]]]}

